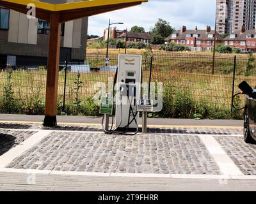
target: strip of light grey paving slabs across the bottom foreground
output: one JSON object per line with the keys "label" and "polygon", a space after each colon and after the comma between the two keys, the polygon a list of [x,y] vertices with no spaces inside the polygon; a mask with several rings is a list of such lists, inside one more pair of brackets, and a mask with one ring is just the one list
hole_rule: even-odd
{"label": "strip of light grey paving slabs across the bottom foreground", "polygon": [[[6,175],[6,173],[3,173]],[[71,176],[72,178],[77,176]],[[15,180],[20,179],[19,184]],[[35,183],[28,184],[26,173],[0,172],[0,191],[255,191],[255,180],[168,179],[132,177],[79,176],[79,181],[67,184],[60,175],[35,175]],[[157,192],[156,192],[157,194]]]}

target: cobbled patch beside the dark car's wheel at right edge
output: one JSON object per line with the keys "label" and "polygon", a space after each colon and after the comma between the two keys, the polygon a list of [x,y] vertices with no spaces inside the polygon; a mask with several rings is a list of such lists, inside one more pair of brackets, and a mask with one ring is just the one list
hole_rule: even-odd
{"label": "cobbled patch beside the dark car's wheel at right edge", "polygon": [[246,144],[243,136],[216,136],[215,139],[244,175],[256,175],[256,145]]}

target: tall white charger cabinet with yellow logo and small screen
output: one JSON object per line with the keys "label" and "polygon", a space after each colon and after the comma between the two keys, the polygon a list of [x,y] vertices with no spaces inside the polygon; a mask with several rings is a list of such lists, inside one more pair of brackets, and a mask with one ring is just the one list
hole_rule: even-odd
{"label": "tall white charger cabinet with yellow logo and small screen", "polygon": [[[141,55],[118,55],[116,127],[120,129],[135,129],[138,126],[136,103],[141,98],[141,66]],[[134,115],[130,111],[131,107],[136,114],[136,121],[132,120]]]}

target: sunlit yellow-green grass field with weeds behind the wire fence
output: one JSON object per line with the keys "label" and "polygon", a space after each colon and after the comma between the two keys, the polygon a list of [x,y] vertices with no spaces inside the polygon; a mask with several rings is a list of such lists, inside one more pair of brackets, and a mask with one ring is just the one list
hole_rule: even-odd
{"label": "sunlit yellow-green grass field with weeds behind the wire fence", "polygon": [[[141,52],[141,50],[140,50]],[[231,117],[241,118],[241,112],[230,112],[232,98],[232,80],[234,55],[218,56],[214,75],[212,75],[212,58],[206,55],[187,53],[154,52],[154,66],[152,82],[163,82],[164,85],[164,109],[160,113],[154,113],[154,117],[186,117],[193,118],[195,113],[202,114],[204,118],[229,119]],[[104,55],[101,53],[88,54],[86,61],[90,62],[92,68],[104,66]],[[253,69],[250,76],[246,75],[246,63],[248,59],[242,57],[237,59],[235,92],[239,91],[237,86],[243,80],[255,84],[256,63],[252,62]],[[111,64],[117,64],[117,55],[113,55]],[[148,82],[150,68],[150,57],[143,59],[143,80]],[[12,73],[13,97],[17,108],[13,112],[37,114],[44,112],[45,69],[39,70],[17,70]],[[0,72],[0,112],[3,104],[3,90],[7,84],[7,73],[3,69]],[[114,77],[115,72],[81,73],[80,80],[83,82],[79,89],[81,106],[79,111],[75,110],[74,100],[76,98],[77,73],[67,75],[66,100],[68,114],[97,115],[99,107],[93,105],[93,96],[97,89],[97,82],[108,82],[109,77]],[[60,72],[58,89],[58,112],[61,113],[63,99],[65,72]],[[2,101],[2,102],[1,102]],[[242,106],[244,98],[237,103]]]}

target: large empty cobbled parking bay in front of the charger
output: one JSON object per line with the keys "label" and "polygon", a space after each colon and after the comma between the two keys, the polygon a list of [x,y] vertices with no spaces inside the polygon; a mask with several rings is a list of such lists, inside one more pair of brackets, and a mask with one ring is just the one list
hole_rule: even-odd
{"label": "large empty cobbled parking bay in front of the charger", "polygon": [[161,174],[220,170],[198,136],[53,132],[8,168]]}

